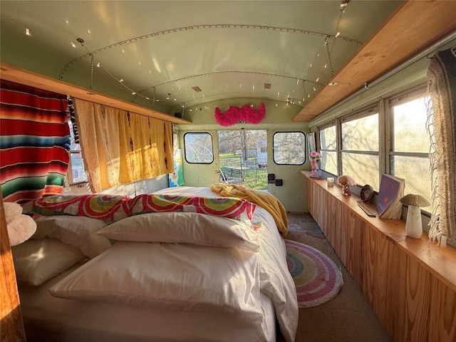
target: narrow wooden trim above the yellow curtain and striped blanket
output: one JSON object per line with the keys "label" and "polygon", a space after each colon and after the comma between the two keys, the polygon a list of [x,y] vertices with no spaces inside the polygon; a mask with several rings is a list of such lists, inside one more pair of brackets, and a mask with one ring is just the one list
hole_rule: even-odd
{"label": "narrow wooden trim above the yellow curtain and striped blanket", "polygon": [[82,100],[87,100],[93,103],[100,103],[102,105],[128,110],[132,113],[149,116],[150,118],[170,121],[171,123],[181,125],[189,125],[191,123],[188,120],[175,118],[174,116],[160,113],[156,110],[151,110],[117,98],[111,98],[107,95],[95,93],[90,89],[74,86],[70,83],[39,75],[38,73],[31,73],[30,71],[16,68],[15,66],[9,66],[5,63],[0,63],[0,78],[38,89],[53,91],[58,94],[71,95],[73,98],[81,98]]}

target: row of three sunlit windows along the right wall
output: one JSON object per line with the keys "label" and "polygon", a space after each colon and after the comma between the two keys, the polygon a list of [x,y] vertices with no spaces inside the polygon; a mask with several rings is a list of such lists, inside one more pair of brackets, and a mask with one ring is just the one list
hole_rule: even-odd
{"label": "row of three sunlit windows along the right wall", "polygon": [[430,199],[428,101],[425,87],[418,87],[322,125],[321,170],[350,175],[376,191],[380,176],[389,173],[405,180],[405,194]]}

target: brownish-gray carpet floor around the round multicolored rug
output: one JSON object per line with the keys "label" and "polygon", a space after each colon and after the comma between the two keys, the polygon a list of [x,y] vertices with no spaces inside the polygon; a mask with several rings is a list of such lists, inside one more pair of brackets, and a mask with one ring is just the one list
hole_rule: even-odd
{"label": "brownish-gray carpet floor around the round multicolored rug", "polygon": [[[296,342],[390,342],[391,338],[310,214],[289,213],[285,239],[314,247],[341,269],[343,286],[331,301],[299,309]],[[284,339],[279,336],[278,341]]]}

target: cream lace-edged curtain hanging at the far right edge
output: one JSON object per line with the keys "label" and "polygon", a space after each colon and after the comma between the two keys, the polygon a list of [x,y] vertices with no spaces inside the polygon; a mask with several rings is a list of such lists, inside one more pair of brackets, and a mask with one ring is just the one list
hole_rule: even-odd
{"label": "cream lace-edged curtain hanging at the far right edge", "polygon": [[456,243],[456,48],[436,53],[427,70],[432,180],[429,238],[440,247]]}

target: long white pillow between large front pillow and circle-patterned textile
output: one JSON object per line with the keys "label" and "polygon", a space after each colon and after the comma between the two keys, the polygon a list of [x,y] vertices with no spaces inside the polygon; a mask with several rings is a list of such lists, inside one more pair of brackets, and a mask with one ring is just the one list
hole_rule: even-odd
{"label": "long white pillow between large front pillow and circle-patterned textile", "polygon": [[114,240],[238,247],[258,252],[257,232],[249,223],[195,212],[153,212],[121,219],[101,228],[98,234]]}

